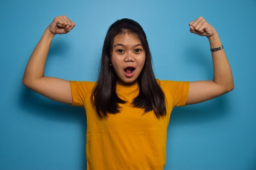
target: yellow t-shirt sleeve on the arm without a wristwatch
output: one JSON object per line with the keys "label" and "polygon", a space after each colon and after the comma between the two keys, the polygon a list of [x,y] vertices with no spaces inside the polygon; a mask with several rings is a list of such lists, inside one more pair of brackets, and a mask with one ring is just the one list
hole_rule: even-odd
{"label": "yellow t-shirt sleeve on the arm without a wristwatch", "polygon": [[84,108],[85,97],[92,91],[94,82],[71,81],[70,88],[73,103],[71,106],[79,106]]}

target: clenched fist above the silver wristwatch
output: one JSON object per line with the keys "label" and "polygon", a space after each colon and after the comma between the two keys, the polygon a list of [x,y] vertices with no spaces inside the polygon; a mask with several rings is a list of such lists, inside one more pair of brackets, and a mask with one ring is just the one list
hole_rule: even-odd
{"label": "clenched fist above the silver wristwatch", "polygon": [[206,22],[202,17],[190,22],[189,26],[191,33],[206,36],[207,38],[217,33],[216,29],[214,29],[213,26]]}

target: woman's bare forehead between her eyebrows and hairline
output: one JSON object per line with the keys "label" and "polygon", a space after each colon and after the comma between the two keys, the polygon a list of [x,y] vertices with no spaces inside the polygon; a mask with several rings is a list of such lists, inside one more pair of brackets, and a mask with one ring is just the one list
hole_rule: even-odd
{"label": "woman's bare forehead between her eyebrows and hairline", "polygon": [[133,33],[121,33],[114,37],[113,46],[117,43],[121,44],[141,44],[141,40]]}

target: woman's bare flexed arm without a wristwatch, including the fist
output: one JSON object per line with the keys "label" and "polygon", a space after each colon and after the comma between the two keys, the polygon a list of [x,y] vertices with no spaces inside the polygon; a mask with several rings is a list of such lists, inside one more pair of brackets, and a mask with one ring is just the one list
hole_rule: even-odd
{"label": "woman's bare flexed arm without a wristwatch, including the fist", "polygon": [[64,79],[44,76],[47,54],[56,34],[65,34],[73,29],[75,24],[65,15],[54,18],[45,29],[42,38],[36,45],[27,63],[22,84],[31,90],[57,102],[72,104],[70,82]]}

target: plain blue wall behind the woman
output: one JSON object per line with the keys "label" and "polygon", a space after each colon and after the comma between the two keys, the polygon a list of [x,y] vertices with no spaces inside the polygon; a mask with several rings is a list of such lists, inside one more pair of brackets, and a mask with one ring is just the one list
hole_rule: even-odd
{"label": "plain blue wall behind the woman", "polygon": [[1,0],[0,170],[86,169],[83,108],[47,99],[22,85],[29,57],[58,15],[76,23],[56,35],[45,76],[96,81],[110,24],[136,20],[147,34],[159,79],[212,79],[209,41],[189,32],[203,16],[219,33],[235,89],[174,108],[164,170],[256,169],[255,0]]}

